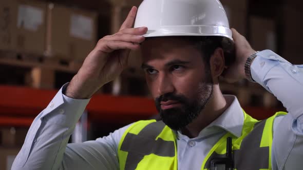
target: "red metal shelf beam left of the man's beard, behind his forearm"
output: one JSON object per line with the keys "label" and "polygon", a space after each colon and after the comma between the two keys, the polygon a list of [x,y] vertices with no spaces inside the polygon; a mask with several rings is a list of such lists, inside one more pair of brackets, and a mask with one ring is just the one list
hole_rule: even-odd
{"label": "red metal shelf beam left of the man's beard, behind his forearm", "polygon": [[[56,90],[0,86],[0,115],[35,116],[47,107]],[[87,106],[88,112],[117,115],[153,115],[157,112],[153,99],[95,95]]]}

